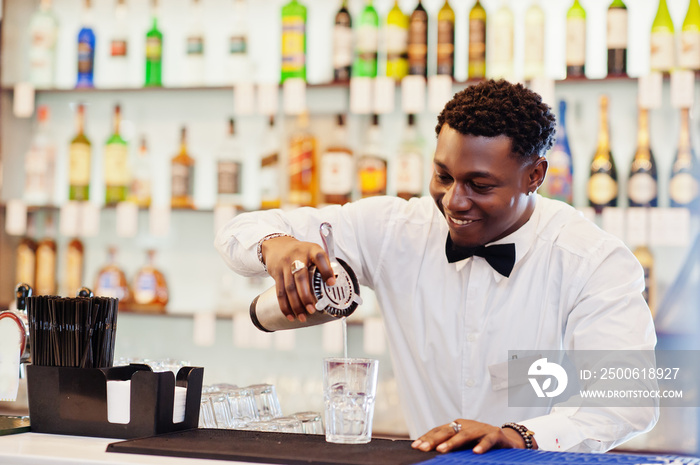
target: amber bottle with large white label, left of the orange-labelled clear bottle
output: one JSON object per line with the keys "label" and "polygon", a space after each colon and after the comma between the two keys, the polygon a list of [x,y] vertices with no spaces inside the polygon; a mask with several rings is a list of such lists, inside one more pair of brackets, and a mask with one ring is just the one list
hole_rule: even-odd
{"label": "amber bottle with large white label, left of the orange-labelled clear bottle", "polygon": [[355,161],[347,143],[345,115],[336,116],[333,141],[321,155],[320,189],[324,204],[344,204],[352,199]]}

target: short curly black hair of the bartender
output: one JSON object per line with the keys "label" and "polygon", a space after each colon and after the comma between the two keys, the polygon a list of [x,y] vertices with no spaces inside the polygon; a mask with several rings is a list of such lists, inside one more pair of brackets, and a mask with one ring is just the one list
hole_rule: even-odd
{"label": "short curly black hair of the bartender", "polygon": [[542,97],[522,84],[483,81],[457,92],[438,116],[435,132],[447,124],[461,134],[510,137],[513,153],[543,156],[554,144],[556,119]]}

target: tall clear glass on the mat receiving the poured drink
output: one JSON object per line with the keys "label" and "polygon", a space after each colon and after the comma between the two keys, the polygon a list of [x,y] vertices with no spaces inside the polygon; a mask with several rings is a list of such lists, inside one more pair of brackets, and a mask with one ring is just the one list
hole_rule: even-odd
{"label": "tall clear glass on the mat receiving the poured drink", "polygon": [[326,441],[364,444],[372,439],[378,360],[323,360]]}

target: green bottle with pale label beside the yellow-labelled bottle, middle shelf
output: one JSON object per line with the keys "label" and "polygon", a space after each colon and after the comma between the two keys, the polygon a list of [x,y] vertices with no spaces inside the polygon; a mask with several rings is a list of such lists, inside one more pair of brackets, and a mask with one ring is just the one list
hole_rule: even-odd
{"label": "green bottle with pale label beside the yellow-labelled bottle, middle shelf", "polygon": [[114,132],[107,139],[104,152],[105,205],[126,200],[129,184],[129,147],[119,133],[121,108],[114,107]]}

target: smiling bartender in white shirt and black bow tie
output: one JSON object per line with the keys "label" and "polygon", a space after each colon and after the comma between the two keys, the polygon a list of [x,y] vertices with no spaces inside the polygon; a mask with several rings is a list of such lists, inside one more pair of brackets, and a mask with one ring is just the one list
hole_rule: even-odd
{"label": "smiling bartender in white shirt and black bow tie", "polygon": [[430,197],[245,213],[217,249],[237,273],[272,276],[282,312],[305,321],[315,311],[307,266],[334,282],[317,243],[331,223],[336,254],[376,293],[416,449],[602,452],[651,429],[654,407],[509,407],[493,382],[509,351],[656,344],[632,253],[537,194],[550,108],[521,84],[489,80],[455,94],[435,130]]}

